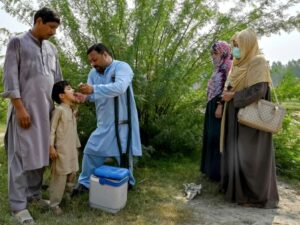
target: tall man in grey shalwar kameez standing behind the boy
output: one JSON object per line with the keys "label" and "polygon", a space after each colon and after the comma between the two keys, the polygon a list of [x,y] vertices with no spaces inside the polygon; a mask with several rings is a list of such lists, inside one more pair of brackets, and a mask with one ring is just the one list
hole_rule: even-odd
{"label": "tall man in grey shalwar kameez standing behind the boy", "polygon": [[27,202],[41,200],[43,168],[49,164],[51,90],[62,79],[57,50],[47,41],[60,24],[48,8],[38,10],[32,30],[12,38],[4,64],[2,97],[9,98],[5,146],[10,209],[33,223]]}

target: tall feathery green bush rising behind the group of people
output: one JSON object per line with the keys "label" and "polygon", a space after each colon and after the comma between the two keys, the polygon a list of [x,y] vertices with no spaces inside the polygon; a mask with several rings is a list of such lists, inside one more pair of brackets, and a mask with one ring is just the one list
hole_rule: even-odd
{"label": "tall feathery green bush rising behind the group of people", "polygon": [[[21,21],[32,21],[32,2],[0,1]],[[85,81],[90,69],[87,48],[105,43],[116,59],[128,62],[134,70],[143,143],[182,152],[199,149],[200,112],[206,104],[213,42],[229,41],[247,26],[259,35],[298,28],[299,15],[285,13],[296,2],[48,0],[40,4],[56,9],[62,17],[54,42],[65,79],[75,85]],[[195,84],[198,89],[193,88]],[[88,110],[92,109],[84,109],[82,115],[86,120],[92,116]]]}

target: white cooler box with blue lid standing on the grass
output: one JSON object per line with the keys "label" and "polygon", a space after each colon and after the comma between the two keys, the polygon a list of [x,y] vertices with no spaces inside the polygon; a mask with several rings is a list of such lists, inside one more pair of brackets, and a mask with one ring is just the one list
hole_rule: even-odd
{"label": "white cooler box with blue lid standing on the grass", "polygon": [[100,166],[90,178],[89,205],[106,212],[117,213],[127,201],[129,170]]}

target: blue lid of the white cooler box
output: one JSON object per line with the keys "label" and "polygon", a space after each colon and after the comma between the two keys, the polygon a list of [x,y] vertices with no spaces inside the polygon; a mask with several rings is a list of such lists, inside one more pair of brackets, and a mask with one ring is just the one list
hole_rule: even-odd
{"label": "blue lid of the white cooler box", "polygon": [[122,180],[124,177],[129,176],[129,170],[126,168],[103,165],[94,170],[94,175],[96,177]]}

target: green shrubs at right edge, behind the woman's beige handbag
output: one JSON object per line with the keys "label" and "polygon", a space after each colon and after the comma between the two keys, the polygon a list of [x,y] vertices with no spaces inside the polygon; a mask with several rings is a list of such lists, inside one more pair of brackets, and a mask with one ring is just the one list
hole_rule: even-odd
{"label": "green shrubs at right edge, behind the woman's beige handbag", "polygon": [[[279,174],[289,178],[300,177],[300,81],[289,70],[284,70],[283,79],[276,88],[280,102],[287,113],[282,131],[274,135],[276,165]],[[274,98],[273,98],[274,100]]]}

